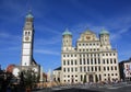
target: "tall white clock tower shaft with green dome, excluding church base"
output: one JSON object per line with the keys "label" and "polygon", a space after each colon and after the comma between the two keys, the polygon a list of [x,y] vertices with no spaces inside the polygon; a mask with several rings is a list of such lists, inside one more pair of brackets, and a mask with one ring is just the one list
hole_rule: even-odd
{"label": "tall white clock tower shaft with green dome, excluding church base", "polygon": [[34,16],[32,15],[31,12],[28,12],[23,28],[21,66],[31,66],[33,61],[33,41],[34,41],[33,19]]}

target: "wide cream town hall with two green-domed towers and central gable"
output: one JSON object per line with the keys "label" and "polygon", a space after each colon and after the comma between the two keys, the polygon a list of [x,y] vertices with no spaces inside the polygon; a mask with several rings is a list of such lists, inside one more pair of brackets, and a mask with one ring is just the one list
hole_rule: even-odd
{"label": "wide cream town hall with two green-domed towers and central gable", "polygon": [[53,70],[53,80],[62,83],[119,80],[118,54],[111,48],[109,33],[102,30],[99,37],[87,30],[72,46],[72,33],[62,34],[61,67]]}

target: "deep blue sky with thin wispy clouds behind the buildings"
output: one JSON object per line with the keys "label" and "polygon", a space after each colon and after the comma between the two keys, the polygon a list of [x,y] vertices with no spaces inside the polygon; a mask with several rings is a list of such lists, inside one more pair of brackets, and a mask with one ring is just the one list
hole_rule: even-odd
{"label": "deep blue sky with thin wispy clouds behind the buildings", "polygon": [[130,0],[0,0],[0,65],[20,65],[22,33],[28,9],[34,15],[34,58],[44,67],[61,65],[62,33],[73,34],[73,46],[87,30],[97,36],[104,27],[110,33],[119,61],[131,57]]}

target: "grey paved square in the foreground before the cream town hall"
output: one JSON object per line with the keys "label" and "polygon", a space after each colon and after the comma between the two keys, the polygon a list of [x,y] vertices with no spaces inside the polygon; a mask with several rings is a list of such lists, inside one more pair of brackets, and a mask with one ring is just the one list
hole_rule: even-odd
{"label": "grey paved square in the foreground before the cream town hall", "polygon": [[131,92],[131,84],[127,82],[115,84],[74,84],[37,89],[33,92]]}

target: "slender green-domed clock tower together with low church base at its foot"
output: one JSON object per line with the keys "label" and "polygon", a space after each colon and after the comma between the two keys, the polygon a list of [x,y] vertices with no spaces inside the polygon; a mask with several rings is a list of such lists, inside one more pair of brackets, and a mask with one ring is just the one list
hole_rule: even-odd
{"label": "slender green-domed clock tower together with low church base at its foot", "polygon": [[19,76],[23,70],[33,70],[36,76],[39,76],[40,65],[33,58],[33,44],[34,44],[34,16],[31,11],[25,16],[25,24],[22,35],[22,56],[21,65],[15,66],[13,74]]}

